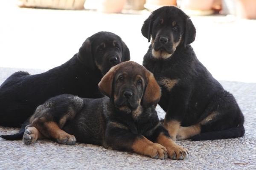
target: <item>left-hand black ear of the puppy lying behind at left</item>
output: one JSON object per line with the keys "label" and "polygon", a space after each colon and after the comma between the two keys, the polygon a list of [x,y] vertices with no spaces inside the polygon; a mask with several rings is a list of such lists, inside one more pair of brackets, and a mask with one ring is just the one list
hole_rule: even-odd
{"label": "left-hand black ear of the puppy lying behind at left", "polygon": [[92,69],[94,71],[95,63],[93,61],[93,54],[92,54],[92,51],[91,51],[90,38],[87,38],[84,41],[84,43],[82,44],[82,46],[79,48],[79,52],[77,53],[77,57],[83,65],[89,67],[90,69]]}

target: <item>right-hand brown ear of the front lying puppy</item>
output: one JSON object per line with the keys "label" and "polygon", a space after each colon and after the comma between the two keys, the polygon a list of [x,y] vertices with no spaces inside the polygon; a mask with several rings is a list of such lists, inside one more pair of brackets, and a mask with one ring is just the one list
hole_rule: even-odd
{"label": "right-hand brown ear of the front lying puppy", "polygon": [[154,78],[153,74],[149,73],[147,79],[148,82],[141,100],[141,104],[145,108],[149,108],[150,106],[157,104],[161,97],[160,87],[157,84],[157,81]]}

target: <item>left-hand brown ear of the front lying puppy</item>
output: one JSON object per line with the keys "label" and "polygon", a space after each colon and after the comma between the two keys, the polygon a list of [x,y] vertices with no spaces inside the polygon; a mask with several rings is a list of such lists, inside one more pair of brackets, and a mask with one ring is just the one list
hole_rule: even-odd
{"label": "left-hand brown ear of the front lying puppy", "polygon": [[101,81],[99,82],[99,90],[108,96],[111,100],[113,98],[113,88],[114,88],[114,79],[116,75],[117,67],[112,67],[105,76],[102,77]]}

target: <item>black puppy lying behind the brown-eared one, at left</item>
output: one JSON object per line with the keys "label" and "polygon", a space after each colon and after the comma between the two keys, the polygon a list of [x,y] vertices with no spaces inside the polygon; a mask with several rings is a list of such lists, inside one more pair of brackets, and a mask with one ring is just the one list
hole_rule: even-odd
{"label": "black puppy lying behind the brown-eared one, at left", "polygon": [[12,74],[0,86],[0,125],[20,127],[38,105],[60,94],[102,97],[98,84],[103,75],[128,60],[129,49],[119,36],[98,32],[61,66],[36,75],[24,71]]}

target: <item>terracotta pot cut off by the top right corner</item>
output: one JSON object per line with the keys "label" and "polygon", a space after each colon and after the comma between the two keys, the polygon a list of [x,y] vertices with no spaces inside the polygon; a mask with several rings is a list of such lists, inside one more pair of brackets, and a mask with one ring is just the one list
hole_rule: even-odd
{"label": "terracotta pot cut off by the top right corner", "polygon": [[256,19],[256,0],[236,0],[236,16]]}

